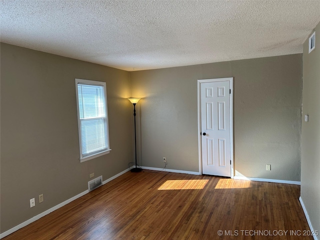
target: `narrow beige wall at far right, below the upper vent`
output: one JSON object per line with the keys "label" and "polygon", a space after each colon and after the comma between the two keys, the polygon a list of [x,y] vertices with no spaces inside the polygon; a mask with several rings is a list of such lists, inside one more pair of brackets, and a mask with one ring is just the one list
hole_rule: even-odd
{"label": "narrow beige wall at far right, below the upper vent", "polygon": [[[313,32],[313,31],[312,31]],[[314,230],[320,230],[320,23],[315,27],[315,49],[303,44],[303,116],[301,137],[301,199]],[[320,236],[317,236],[320,239]]]}

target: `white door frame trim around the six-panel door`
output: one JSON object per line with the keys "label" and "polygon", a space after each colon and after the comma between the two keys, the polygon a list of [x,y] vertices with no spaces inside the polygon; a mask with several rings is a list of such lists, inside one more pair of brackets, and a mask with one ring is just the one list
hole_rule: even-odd
{"label": "white door frame trim around the six-panel door", "polygon": [[201,83],[204,82],[215,82],[215,81],[229,81],[230,82],[230,177],[234,176],[233,169],[233,77],[222,77],[222,78],[209,78],[209,79],[198,79],[198,153],[199,153],[199,174],[202,175],[202,137],[201,137]]}

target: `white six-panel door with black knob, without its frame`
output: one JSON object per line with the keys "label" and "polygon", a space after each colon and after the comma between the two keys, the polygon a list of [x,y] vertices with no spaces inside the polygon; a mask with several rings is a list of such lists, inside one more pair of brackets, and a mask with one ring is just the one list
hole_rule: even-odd
{"label": "white six-panel door with black knob, without its frame", "polygon": [[202,173],[231,175],[230,81],[201,83]]}

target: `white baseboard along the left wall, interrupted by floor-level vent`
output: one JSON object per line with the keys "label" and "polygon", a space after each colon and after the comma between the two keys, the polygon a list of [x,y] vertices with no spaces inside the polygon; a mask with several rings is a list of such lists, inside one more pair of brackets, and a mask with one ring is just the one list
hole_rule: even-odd
{"label": "white baseboard along the left wall, interrupted by floor-level vent", "polygon": [[[125,173],[125,172],[127,172],[127,171],[129,171],[129,170],[130,170],[130,168],[127,168],[127,169],[125,169],[124,171],[121,171],[120,173],[118,173],[118,174],[116,174],[116,175],[114,175],[114,176],[112,176],[112,177],[104,180],[104,181],[102,182],[102,184],[105,184],[105,183],[113,180],[114,178],[122,175],[123,173]],[[75,200],[75,199],[77,199],[77,198],[79,198],[79,197],[81,197],[81,196],[83,196],[83,195],[85,195],[85,194],[88,193],[88,192],[89,192],[89,190],[85,190],[85,191],[83,191],[83,192],[81,192],[81,193],[79,193],[79,194],[77,194],[77,195],[75,195],[75,196],[73,196],[73,197],[71,197],[71,198],[69,198],[69,199],[67,199],[67,200],[65,200],[65,201],[63,201],[63,202],[61,202],[61,203],[59,203],[59,204],[57,204],[57,205],[55,205],[55,206],[53,206],[53,207],[45,210],[45,211],[43,211],[43,212],[41,212],[40,214],[38,214],[38,215],[36,215],[36,216],[33,216],[33,217],[31,217],[30,219],[28,219],[28,220],[26,220],[26,221],[24,221],[24,222],[22,222],[22,223],[20,223],[20,224],[18,224],[18,225],[16,225],[16,226],[12,227],[11,229],[2,232],[2,233],[0,234],[0,239],[3,238],[3,237],[5,237],[5,236],[7,236],[7,235],[9,235],[9,234],[11,234],[12,232],[14,232],[14,231],[16,231],[16,230],[18,230],[18,229],[20,229],[20,228],[22,228],[22,227],[30,224],[31,222],[36,221],[37,219],[41,218],[42,216],[45,216],[45,215],[49,214],[50,212],[52,212],[52,211],[54,211],[54,210],[56,210],[56,209],[58,209],[58,208],[60,208],[60,207],[62,207],[62,206],[64,206],[64,205],[70,203],[71,201],[73,201],[73,200]]]}

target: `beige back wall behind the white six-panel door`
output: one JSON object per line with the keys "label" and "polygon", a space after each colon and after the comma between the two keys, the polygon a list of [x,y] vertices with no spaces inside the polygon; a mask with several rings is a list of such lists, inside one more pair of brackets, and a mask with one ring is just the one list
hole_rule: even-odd
{"label": "beige back wall behind the white six-panel door", "polygon": [[[130,72],[138,159],[199,171],[197,79],[234,77],[236,175],[300,180],[302,54]],[[265,170],[271,164],[271,171]]]}

